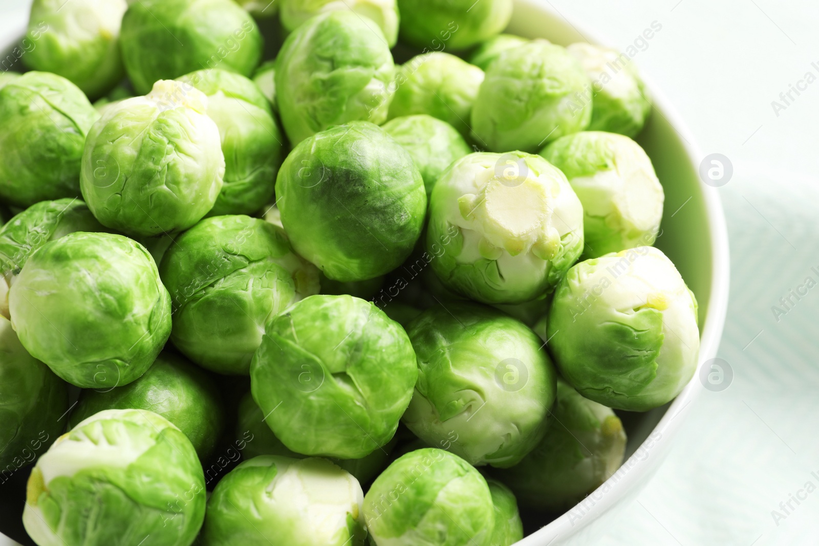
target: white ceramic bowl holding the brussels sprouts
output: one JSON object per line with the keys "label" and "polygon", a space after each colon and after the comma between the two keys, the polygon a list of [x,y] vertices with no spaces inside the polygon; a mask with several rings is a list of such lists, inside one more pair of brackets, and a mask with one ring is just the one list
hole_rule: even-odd
{"label": "white ceramic bowl holding the brussels sprouts", "polygon": [[[25,20],[6,20],[6,25],[0,29],[0,52],[7,52],[19,39]],[[563,19],[545,0],[515,0],[508,32],[527,38],[548,38],[561,45],[584,41],[602,43],[579,29],[581,25]],[[639,59],[636,62],[639,65]],[[645,73],[643,76],[647,79]],[[672,259],[697,296],[702,336],[699,360],[704,363],[717,354],[725,322],[728,301],[725,217],[717,191],[699,179],[699,161],[703,155],[694,139],[663,94],[649,79],[646,83],[654,99],[654,111],[637,141],[654,162],[665,190],[663,231],[656,246]],[[518,546],[593,544],[613,526],[619,512],[636,498],[662,463],[690,403],[703,388],[698,377],[699,374],[695,375],[671,404],[631,420],[627,461],[609,481],[563,516],[518,542]],[[15,544],[4,543],[4,540],[8,539],[0,535],[0,546]]]}

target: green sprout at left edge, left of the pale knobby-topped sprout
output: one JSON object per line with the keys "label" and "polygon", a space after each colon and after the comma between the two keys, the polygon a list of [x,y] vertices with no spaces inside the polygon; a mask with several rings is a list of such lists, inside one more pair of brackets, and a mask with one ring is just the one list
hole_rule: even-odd
{"label": "green sprout at left edge, left of the pale knobby-topped sprout", "polygon": [[28,72],[0,88],[0,198],[20,207],[79,196],[79,163],[99,115],[67,79]]}

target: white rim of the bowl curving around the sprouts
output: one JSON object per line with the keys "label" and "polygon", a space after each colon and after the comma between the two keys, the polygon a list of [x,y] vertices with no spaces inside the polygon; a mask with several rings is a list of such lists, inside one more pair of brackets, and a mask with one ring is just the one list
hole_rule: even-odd
{"label": "white rim of the bowl curving around the sprouts", "polygon": [[[577,31],[577,34],[581,34],[591,43],[604,46],[612,43],[610,40],[606,40],[600,32],[591,32],[577,20],[564,16],[548,0],[514,0],[514,4],[516,6],[526,5],[530,9],[544,11],[554,20],[565,21],[566,25],[570,25],[572,29]],[[662,112],[668,124],[675,129],[679,144],[686,153],[686,159],[694,171],[699,172],[699,161],[704,155],[687,124],[682,120],[672,102],[658,88],[657,84],[650,77],[645,76],[644,73],[641,73],[640,76],[654,102],[654,110]],[[711,239],[711,291],[708,296],[708,313],[704,320],[702,332],[700,332],[699,363],[694,376],[672,401],[657,426],[654,426],[646,440],[637,448],[636,453],[624,461],[609,480],[586,496],[586,499],[594,499],[594,502],[590,503],[590,506],[582,507],[581,515],[572,514],[572,511],[586,503],[586,499],[569,508],[559,517],[541,527],[541,529],[525,536],[515,543],[515,546],[548,546],[558,538],[568,539],[586,526],[586,524],[577,525],[577,519],[595,521],[604,512],[608,512],[615,504],[627,497],[630,491],[638,488],[640,481],[651,476],[652,471],[655,470],[655,465],[648,455],[645,458],[639,458],[637,454],[650,453],[663,443],[663,437],[671,438],[684,421],[684,419],[677,419],[677,417],[685,417],[690,411],[691,402],[704,390],[704,386],[699,381],[699,371],[709,359],[716,357],[720,339],[722,338],[722,330],[725,326],[730,284],[730,254],[725,213],[722,210],[722,200],[719,192],[716,187],[708,186],[702,179],[699,180],[699,187],[708,219],[708,234]],[[658,436],[657,433],[659,433]],[[621,473],[624,468],[626,469],[625,472]]]}

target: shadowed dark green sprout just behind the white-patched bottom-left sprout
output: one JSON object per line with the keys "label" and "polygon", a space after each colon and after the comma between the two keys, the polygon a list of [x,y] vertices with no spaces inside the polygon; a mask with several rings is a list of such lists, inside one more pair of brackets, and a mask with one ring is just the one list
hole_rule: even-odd
{"label": "shadowed dark green sprout just behind the white-patched bottom-left sprout", "polygon": [[83,390],[69,428],[105,409],[147,409],[183,431],[201,460],[221,434],[222,401],[206,372],[171,353],[161,353],[142,377],[107,390]]}

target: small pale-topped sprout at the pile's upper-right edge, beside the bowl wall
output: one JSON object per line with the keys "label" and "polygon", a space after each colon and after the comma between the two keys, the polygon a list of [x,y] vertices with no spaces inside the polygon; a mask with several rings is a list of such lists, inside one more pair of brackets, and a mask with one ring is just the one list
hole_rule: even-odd
{"label": "small pale-topped sprout at the pile's upper-right edge, beside the bowl wall", "polygon": [[640,133],[651,111],[651,100],[631,59],[590,43],[572,43],[567,49],[591,79],[593,108],[589,129],[627,137]]}

